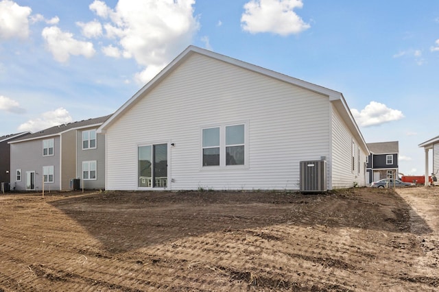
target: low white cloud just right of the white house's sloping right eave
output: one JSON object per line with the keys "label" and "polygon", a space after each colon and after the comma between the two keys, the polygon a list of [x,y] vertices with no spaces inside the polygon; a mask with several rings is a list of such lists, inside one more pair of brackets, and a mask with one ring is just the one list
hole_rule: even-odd
{"label": "low white cloud just right of the white house's sloping right eave", "polygon": [[351,110],[355,121],[362,127],[369,127],[372,125],[381,125],[390,121],[398,121],[403,119],[404,115],[400,110],[393,110],[388,108],[385,104],[380,104],[377,101],[370,101],[361,112],[353,108]]}

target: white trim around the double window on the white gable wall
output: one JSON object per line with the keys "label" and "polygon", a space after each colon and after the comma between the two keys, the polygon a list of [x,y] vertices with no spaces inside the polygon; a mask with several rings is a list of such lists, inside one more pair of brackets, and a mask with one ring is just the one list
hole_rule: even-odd
{"label": "white trim around the double window on the white gable wall", "polygon": [[[244,165],[226,165],[226,147],[233,145],[226,145],[226,127],[233,125],[244,125]],[[248,169],[249,168],[249,122],[248,121],[234,121],[230,123],[215,123],[200,126],[200,171],[228,171],[230,169]],[[213,127],[219,127],[219,165],[204,166],[203,165],[203,130]]]}

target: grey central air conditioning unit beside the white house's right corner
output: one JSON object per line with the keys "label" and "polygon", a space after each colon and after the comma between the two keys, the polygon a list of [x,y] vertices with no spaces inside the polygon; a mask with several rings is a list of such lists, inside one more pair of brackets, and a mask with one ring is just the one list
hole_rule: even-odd
{"label": "grey central air conditioning unit beside the white house's right corner", "polygon": [[328,191],[326,160],[300,161],[300,192]]}

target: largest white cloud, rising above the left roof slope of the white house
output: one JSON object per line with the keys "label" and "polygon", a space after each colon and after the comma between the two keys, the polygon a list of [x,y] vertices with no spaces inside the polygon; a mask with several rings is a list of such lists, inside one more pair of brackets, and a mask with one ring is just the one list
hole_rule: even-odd
{"label": "largest white cloud, rising above the left roof slope of the white house", "polygon": [[124,58],[134,58],[146,68],[137,74],[145,80],[163,68],[182,49],[191,44],[198,31],[193,16],[195,0],[119,0],[114,10],[95,0],[89,8],[97,16],[110,19],[104,25],[106,37],[115,38]]}

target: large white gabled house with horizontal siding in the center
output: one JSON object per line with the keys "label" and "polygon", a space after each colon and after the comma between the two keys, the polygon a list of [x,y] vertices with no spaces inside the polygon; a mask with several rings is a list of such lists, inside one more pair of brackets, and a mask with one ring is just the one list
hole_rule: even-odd
{"label": "large white gabled house with horizontal siding in the center", "polygon": [[342,93],[190,46],[97,130],[108,190],[298,190],[366,184],[364,138]]}

